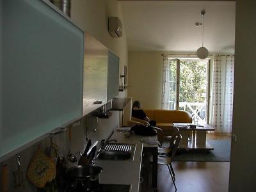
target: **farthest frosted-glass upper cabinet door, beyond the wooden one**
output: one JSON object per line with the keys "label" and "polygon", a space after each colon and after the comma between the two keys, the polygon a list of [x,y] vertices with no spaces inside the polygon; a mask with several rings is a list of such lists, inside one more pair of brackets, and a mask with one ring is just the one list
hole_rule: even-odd
{"label": "farthest frosted-glass upper cabinet door, beyond the wooden one", "polygon": [[119,90],[119,58],[108,52],[108,101],[118,96]]}

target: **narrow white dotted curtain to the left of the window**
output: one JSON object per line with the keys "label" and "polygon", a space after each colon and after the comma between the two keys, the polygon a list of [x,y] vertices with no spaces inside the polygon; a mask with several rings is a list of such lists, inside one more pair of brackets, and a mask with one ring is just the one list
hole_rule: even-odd
{"label": "narrow white dotted curtain to the left of the window", "polygon": [[163,54],[163,88],[162,88],[162,109],[169,109],[170,100],[170,67],[168,62],[168,54]]}

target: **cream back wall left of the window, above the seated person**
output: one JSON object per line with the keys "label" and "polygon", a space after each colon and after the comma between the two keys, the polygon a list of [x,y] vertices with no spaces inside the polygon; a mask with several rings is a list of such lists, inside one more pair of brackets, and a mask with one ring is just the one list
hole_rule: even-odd
{"label": "cream back wall left of the window, above the seated person", "polygon": [[143,109],[161,109],[162,52],[129,52],[128,97],[140,100]]}

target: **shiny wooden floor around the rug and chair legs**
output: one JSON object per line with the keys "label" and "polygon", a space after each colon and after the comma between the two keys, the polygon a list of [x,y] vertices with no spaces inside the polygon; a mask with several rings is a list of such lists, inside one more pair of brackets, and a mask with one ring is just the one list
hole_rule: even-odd
{"label": "shiny wooden floor around the rug and chair legs", "polygon": [[[207,134],[207,139],[230,139],[230,135]],[[173,162],[172,165],[176,175],[175,183],[177,191],[227,192],[229,164],[229,162]],[[151,179],[149,179],[146,186],[145,184],[141,186],[141,192],[153,191],[152,188],[150,188],[150,180]],[[145,182],[147,183],[147,178]],[[158,166],[157,191],[175,191],[169,170],[165,165]]]}

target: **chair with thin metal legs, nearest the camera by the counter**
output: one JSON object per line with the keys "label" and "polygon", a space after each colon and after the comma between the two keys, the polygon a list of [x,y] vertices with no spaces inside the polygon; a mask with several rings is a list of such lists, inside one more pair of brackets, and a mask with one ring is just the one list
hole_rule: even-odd
{"label": "chair with thin metal legs, nearest the camera by the counter", "polygon": [[175,185],[175,173],[172,167],[172,161],[173,161],[173,157],[176,154],[177,148],[179,147],[180,144],[180,140],[181,140],[182,136],[181,134],[178,134],[178,136],[175,137],[174,141],[173,141],[173,147],[172,147],[172,155],[171,156],[158,156],[158,164],[166,164],[166,166],[168,167],[168,170],[170,172],[170,175],[172,177],[172,182],[173,185],[175,187],[175,191],[177,191],[177,187]]}

